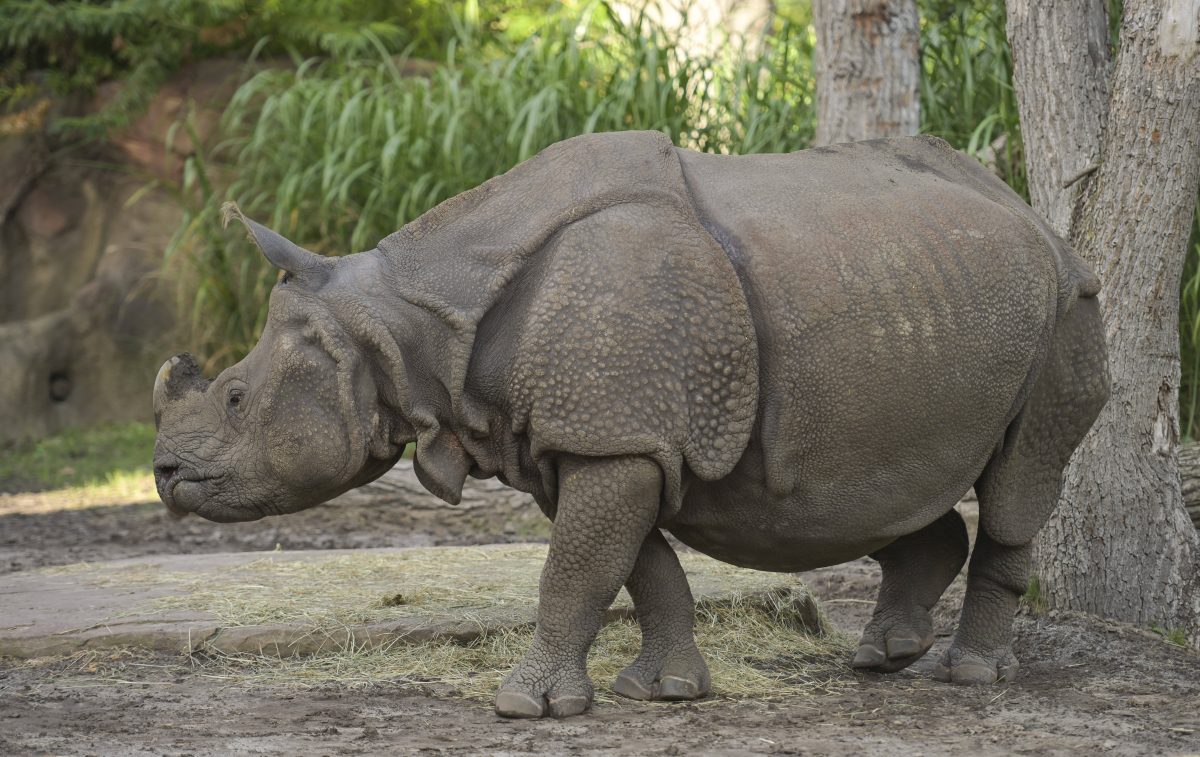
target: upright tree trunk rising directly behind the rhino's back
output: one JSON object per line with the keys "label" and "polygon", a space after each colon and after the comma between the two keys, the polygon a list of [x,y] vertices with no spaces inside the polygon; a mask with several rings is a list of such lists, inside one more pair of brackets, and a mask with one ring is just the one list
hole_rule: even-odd
{"label": "upright tree trunk rising directly behind the rhino's back", "polygon": [[814,0],[816,144],[916,134],[920,32],[916,0]]}

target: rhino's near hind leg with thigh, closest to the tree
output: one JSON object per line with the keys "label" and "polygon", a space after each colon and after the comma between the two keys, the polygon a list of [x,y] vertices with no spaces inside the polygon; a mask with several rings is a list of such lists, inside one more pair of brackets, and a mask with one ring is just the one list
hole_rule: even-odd
{"label": "rhino's near hind leg with thigh, closest to the tree", "polygon": [[1109,396],[1094,299],[1058,324],[1025,407],[976,482],[979,534],[954,642],[934,675],[961,684],[1012,681],[1013,617],[1028,587],[1032,542],[1058,501],[1062,474]]}

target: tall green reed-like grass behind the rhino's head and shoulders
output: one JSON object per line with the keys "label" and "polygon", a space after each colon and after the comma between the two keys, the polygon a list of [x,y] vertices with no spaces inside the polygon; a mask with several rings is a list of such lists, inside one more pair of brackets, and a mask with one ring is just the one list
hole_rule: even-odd
{"label": "tall green reed-like grass behind the rhino's head and shoulders", "polygon": [[443,65],[308,61],[266,70],[230,101],[215,158],[235,166],[220,197],[211,161],[187,164],[188,215],[174,246],[199,281],[197,349],[210,367],[256,341],[275,272],[217,209],[250,215],[319,252],[373,247],[439,202],[568,137],[658,130],[700,150],[787,151],[812,134],[811,40],[781,23],[761,54],[689,56],[646,16],[604,4],[542,19],[521,41],[458,17]]}

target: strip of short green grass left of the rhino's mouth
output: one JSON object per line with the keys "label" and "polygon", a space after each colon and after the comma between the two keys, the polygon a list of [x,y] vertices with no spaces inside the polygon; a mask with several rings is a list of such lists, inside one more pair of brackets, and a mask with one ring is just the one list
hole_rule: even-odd
{"label": "strip of short green grass left of the rhino's mouth", "polygon": [[150,423],[113,423],[71,429],[0,456],[0,492],[28,492],[106,482],[149,473],[155,429]]}

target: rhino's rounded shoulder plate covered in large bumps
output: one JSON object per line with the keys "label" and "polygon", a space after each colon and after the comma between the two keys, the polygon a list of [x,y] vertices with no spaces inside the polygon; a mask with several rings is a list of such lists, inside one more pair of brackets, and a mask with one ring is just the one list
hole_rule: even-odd
{"label": "rhino's rounded shoulder plate covered in large bumps", "polygon": [[546,251],[509,396],[534,456],[647,455],[668,510],[684,464],[737,464],[754,426],[758,364],[732,263],[678,198],[614,205]]}

